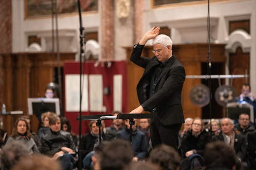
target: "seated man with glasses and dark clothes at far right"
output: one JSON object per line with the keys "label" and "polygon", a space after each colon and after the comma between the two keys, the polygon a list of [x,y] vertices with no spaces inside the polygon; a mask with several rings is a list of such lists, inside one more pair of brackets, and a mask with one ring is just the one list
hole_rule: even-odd
{"label": "seated man with glasses and dark clothes at far right", "polygon": [[239,115],[238,124],[235,126],[236,133],[245,136],[247,138],[247,135],[249,132],[255,131],[254,125],[250,124],[250,116],[242,113]]}

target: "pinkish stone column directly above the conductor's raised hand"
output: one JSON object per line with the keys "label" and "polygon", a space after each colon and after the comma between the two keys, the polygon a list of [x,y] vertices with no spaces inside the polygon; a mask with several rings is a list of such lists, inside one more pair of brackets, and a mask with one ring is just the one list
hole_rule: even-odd
{"label": "pinkish stone column directly above the conductor's raised hand", "polygon": [[134,0],[134,13],[133,13],[133,25],[134,25],[134,44],[138,43],[139,39],[144,34],[144,0]]}

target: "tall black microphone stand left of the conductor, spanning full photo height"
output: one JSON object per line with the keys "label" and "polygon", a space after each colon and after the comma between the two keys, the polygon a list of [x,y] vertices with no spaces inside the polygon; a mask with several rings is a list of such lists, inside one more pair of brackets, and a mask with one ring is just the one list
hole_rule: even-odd
{"label": "tall black microphone stand left of the conductor, spanning full photo height", "polygon": [[82,14],[81,14],[81,7],[80,7],[80,0],[78,0],[78,11],[79,11],[79,32],[80,32],[80,89],[79,89],[79,149],[78,149],[78,156],[79,156],[79,170],[82,170],[82,155],[81,155],[81,131],[82,131],[82,54],[84,53],[83,46],[84,46],[84,27],[82,27]]}

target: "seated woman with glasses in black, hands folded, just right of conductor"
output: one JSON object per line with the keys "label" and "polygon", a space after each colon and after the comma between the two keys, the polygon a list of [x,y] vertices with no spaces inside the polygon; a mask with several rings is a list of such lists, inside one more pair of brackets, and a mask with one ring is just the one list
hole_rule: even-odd
{"label": "seated woman with glasses in black, hands folded, just right of conductor", "polygon": [[202,119],[195,118],[192,129],[187,131],[181,142],[181,152],[184,157],[193,153],[203,154],[205,145],[210,141],[210,135],[204,130]]}

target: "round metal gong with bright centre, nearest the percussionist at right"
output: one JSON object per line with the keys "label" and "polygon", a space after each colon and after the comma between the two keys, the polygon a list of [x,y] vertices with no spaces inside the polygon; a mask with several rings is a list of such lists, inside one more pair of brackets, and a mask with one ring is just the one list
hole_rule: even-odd
{"label": "round metal gong with bright centre, nearest the percussionist at right", "polygon": [[229,102],[234,102],[236,97],[236,89],[230,85],[221,85],[215,92],[215,100],[223,107],[226,107]]}

